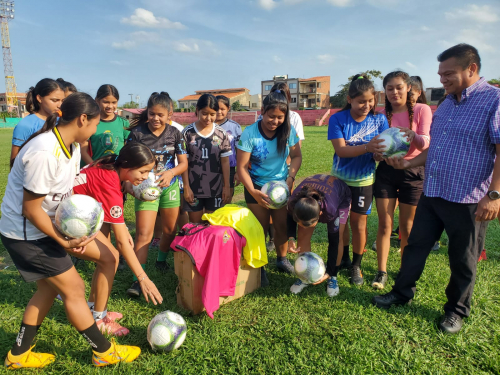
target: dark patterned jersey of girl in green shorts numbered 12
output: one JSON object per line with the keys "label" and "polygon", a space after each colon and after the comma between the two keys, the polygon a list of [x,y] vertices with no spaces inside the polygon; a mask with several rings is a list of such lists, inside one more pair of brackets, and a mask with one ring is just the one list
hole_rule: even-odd
{"label": "dark patterned jersey of girl in green shorts numbered 12", "polygon": [[[155,173],[168,171],[175,167],[175,155],[186,153],[186,147],[181,132],[173,126],[166,125],[163,132],[156,136],[148,124],[141,124],[130,131],[127,142],[140,142],[149,147],[158,160]],[[177,181],[178,176],[171,180],[171,184]]]}

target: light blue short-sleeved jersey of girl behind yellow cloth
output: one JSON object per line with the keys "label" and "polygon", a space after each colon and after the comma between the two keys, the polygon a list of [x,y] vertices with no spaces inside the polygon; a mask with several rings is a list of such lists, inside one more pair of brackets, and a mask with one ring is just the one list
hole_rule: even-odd
{"label": "light blue short-sleeved jersey of girl behind yellow cloth", "polygon": [[250,153],[248,171],[252,181],[262,186],[273,180],[285,180],[288,176],[286,158],[290,153],[289,147],[295,146],[299,137],[293,128],[290,128],[287,147],[283,154],[278,152],[276,136],[268,138],[261,127],[261,121],[248,126],[241,135],[238,149]]}

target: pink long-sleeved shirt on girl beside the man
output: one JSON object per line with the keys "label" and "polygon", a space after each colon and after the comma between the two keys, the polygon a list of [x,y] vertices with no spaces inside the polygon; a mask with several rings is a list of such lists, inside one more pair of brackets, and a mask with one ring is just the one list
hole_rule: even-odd
{"label": "pink long-sleeved shirt on girl beside the man", "polygon": [[[385,109],[381,111],[385,115]],[[412,130],[416,133],[410,150],[405,159],[413,159],[422,151],[429,147],[431,137],[429,131],[432,123],[432,110],[427,104],[417,103],[413,107],[413,126]],[[408,111],[393,113],[391,119],[391,128],[399,126],[401,128],[410,127],[410,117]]]}

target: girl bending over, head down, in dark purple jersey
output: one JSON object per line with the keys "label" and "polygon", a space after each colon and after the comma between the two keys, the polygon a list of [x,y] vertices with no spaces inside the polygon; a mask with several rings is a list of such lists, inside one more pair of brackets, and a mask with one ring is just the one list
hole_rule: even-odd
{"label": "girl bending over, head down, in dark purple jersey", "polygon": [[[326,273],[315,285],[328,280],[326,292],[329,297],[339,294],[337,274],[343,249],[339,233],[344,232],[350,205],[351,191],[345,182],[324,174],[307,177],[295,188],[288,201],[288,243],[292,252],[295,252],[295,239],[298,242],[299,253],[311,251],[311,238],[316,225],[327,224]],[[298,294],[307,286],[308,284],[297,279],[290,291]]]}

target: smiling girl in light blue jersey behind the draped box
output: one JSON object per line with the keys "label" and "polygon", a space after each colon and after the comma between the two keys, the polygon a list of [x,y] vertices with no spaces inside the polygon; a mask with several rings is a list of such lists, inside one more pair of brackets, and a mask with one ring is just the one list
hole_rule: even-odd
{"label": "smiling girl in light blue jersey behind the draped box", "polygon": [[[290,168],[286,159],[290,155]],[[288,100],[280,90],[264,99],[262,120],[248,126],[238,143],[237,173],[245,186],[248,208],[257,217],[264,233],[268,232],[269,217],[275,228],[276,266],[280,271],[294,273],[287,254],[287,209],[271,210],[269,198],[261,192],[269,181],[286,181],[290,191],[302,163],[299,138],[290,126]]]}

